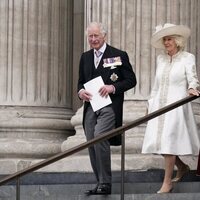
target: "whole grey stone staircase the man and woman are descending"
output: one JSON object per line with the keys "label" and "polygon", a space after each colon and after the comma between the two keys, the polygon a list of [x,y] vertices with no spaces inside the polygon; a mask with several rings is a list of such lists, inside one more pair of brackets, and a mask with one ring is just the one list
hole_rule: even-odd
{"label": "whole grey stone staircase the man and woman are descending", "polygon": [[[200,177],[191,171],[174,185],[172,193],[156,194],[163,170],[125,172],[125,200],[199,200]],[[21,179],[20,200],[121,200],[120,172],[113,172],[112,194],[86,196],[94,186],[92,173],[32,173]],[[0,187],[0,200],[15,200],[14,182]]]}

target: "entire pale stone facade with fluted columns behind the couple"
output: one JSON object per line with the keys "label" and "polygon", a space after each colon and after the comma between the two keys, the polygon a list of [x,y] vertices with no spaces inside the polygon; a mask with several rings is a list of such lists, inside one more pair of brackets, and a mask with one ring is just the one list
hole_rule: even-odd
{"label": "entire pale stone facade with fluted columns behind the couple", "polygon": [[[84,31],[90,21],[103,22],[108,43],[129,54],[138,84],[125,96],[128,123],[145,115],[159,53],[150,46],[157,24],[191,28],[187,49],[197,58],[200,77],[199,9],[199,0],[1,0],[0,173],[15,172],[85,142],[82,108],[76,115],[73,110],[81,105],[76,94],[78,63],[89,48]],[[193,106],[200,123],[199,100]],[[141,155],[144,130],[145,124],[126,132],[128,170],[163,167],[161,157]],[[113,148],[112,154],[112,168],[119,170],[120,148]],[[196,158],[185,159],[196,167]],[[41,171],[91,171],[87,150]]]}

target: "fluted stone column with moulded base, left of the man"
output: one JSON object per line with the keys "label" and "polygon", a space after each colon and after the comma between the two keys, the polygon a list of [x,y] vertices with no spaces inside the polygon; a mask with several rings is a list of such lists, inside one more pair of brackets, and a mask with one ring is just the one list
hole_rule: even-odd
{"label": "fluted stone column with moulded base, left of the man", "polygon": [[0,1],[0,173],[61,151],[74,134],[73,0]]}

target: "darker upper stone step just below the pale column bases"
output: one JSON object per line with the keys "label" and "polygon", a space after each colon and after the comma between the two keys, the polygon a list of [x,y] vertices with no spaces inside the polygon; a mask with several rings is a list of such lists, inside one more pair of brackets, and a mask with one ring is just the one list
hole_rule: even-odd
{"label": "darker upper stone step just below the pale column bases", "polygon": [[[175,172],[174,172],[175,175]],[[0,179],[5,175],[0,175]],[[164,170],[152,169],[147,171],[125,171],[125,183],[156,183],[162,182]],[[112,172],[112,182],[120,183],[121,172]],[[181,182],[200,182],[200,176],[196,176],[196,171],[191,170],[185,175]],[[45,173],[34,172],[21,178],[22,185],[52,185],[52,184],[93,184],[94,174],[91,172],[61,172]],[[13,184],[13,183],[9,183]]]}

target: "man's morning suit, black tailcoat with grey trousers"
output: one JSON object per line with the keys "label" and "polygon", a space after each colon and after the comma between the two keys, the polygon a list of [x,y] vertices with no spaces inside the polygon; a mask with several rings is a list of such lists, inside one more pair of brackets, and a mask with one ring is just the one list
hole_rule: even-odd
{"label": "man's morning suit, black tailcoat with grey trousers", "polygon": [[[104,67],[104,59],[120,57],[122,64],[115,68]],[[93,112],[89,102],[84,102],[83,127],[87,140],[122,125],[124,92],[136,85],[136,77],[126,52],[106,46],[98,68],[94,65],[94,50],[84,52],[79,64],[78,91],[93,78],[101,76],[104,84],[113,85],[115,93],[109,94],[112,104]],[[112,79],[112,77],[117,77]],[[121,136],[113,137],[89,148],[93,171],[99,183],[111,182],[110,145],[121,145]]]}

